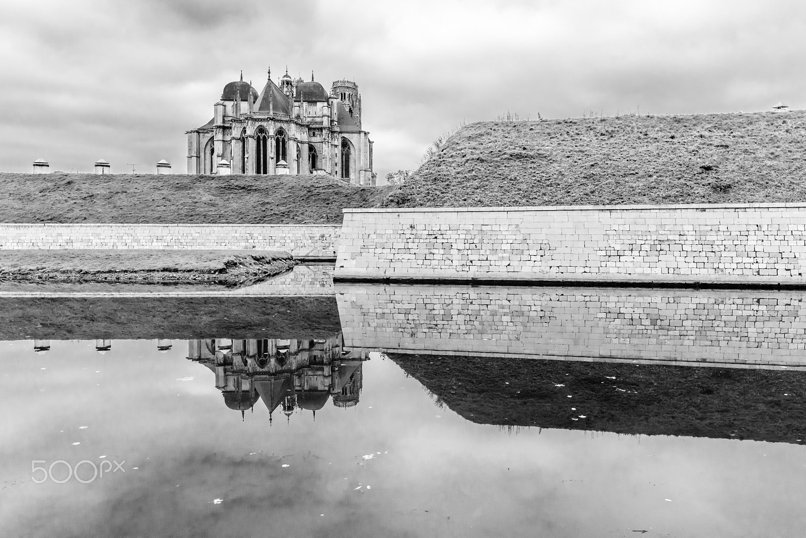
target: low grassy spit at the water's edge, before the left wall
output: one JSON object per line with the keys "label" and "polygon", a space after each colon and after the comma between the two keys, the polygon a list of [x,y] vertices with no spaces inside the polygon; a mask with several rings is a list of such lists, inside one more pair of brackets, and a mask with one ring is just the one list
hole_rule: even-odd
{"label": "low grassy spit at the water's edge, before the left wall", "polygon": [[0,281],[254,283],[288,271],[276,250],[0,250]]}

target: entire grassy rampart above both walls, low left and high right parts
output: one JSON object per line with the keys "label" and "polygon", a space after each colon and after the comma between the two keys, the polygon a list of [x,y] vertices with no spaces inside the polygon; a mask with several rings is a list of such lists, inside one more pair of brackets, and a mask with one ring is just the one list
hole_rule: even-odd
{"label": "entire grassy rampart above both walls, low left and high right parts", "polygon": [[0,222],[338,224],[343,208],[806,201],[806,111],[480,122],[399,188],[0,173]]}

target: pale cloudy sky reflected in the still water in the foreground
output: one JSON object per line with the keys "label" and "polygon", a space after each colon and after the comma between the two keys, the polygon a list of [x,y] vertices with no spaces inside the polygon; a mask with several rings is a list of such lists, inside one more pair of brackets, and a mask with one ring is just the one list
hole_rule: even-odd
{"label": "pale cloudy sky reflected in the still water in the foreground", "polygon": [[[185,354],[159,354],[155,341],[114,341],[104,356],[92,341],[44,355],[31,342],[0,344],[2,373],[14,376],[0,391],[0,406],[14,410],[0,413],[0,476],[24,482],[0,490],[0,535],[600,536],[634,528],[636,517],[673,536],[799,534],[798,446],[510,434],[447,410],[434,420],[420,383],[374,357],[364,364],[367,405],[271,426],[256,406],[263,420],[242,423]],[[176,381],[185,376],[196,379]],[[23,379],[45,391],[31,396]],[[177,397],[177,386],[207,390]],[[69,447],[59,431],[85,424],[81,445]],[[65,447],[77,460],[106,454],[139,470],[31,484],[32,454],[53,461]],[[372,490],[360,494],[359,483]]]}

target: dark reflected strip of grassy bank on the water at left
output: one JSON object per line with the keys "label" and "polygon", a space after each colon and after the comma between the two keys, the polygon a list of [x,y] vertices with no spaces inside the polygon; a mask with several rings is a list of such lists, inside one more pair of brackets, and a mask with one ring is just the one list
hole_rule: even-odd
{"label": "dark reflected strip of grassy bank on the water at left", "polygon": [[0,340],[327,337],[335,297],[0,297]]}

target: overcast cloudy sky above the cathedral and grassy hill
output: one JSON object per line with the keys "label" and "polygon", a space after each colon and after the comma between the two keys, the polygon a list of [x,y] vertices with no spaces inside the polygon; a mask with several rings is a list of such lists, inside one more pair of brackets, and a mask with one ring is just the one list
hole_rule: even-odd
{"label": "overcast cloudy sky above the cathedral and grassy hill", "polygon": [[[363,96],[379,177],[462,122],[806,106],[806,4],[0,0],[0,171],[185,172],[243,69]],[[128,164],[127,164],[128,163]]]}

